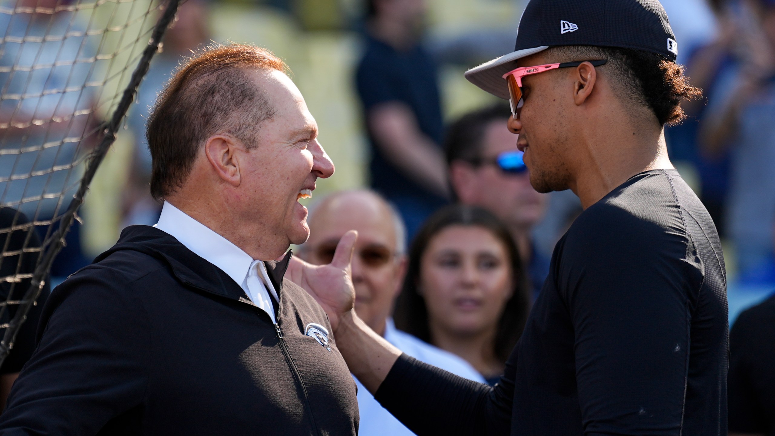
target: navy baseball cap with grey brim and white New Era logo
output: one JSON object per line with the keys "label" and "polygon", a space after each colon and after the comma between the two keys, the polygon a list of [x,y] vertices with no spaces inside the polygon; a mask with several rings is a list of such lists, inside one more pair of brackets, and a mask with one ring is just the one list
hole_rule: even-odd
{"label": "navy baseball cap with grey brim and white New Era logo", "polygon": [[466,71],[468,81],[508,99],[503,74],[522,57],[556,46],[622,47],[661,54],[670,61],[678,43],[657,0],[530,0],[510,54]]}

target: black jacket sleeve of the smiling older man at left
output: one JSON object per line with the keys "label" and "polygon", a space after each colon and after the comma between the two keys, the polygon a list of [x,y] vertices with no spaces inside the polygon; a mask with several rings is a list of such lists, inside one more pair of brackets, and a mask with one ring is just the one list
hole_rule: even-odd
{"label": "black jacket sleeve of the smiling older man at left", "polygon": [[90,267],[54,289],[0,434],[96,434],[143,401],[150,329],[127,286],[108,268]]}

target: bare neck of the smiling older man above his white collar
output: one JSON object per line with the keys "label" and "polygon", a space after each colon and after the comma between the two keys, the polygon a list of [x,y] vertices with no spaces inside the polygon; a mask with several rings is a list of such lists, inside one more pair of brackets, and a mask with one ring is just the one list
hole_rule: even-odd
{"label": "bare neck of the smiling older man above his white collar", "polygon": [[249,237],[259,234],[269,235],[269,233],[240,223],[240,220],[235,218],[239,216],[239,211],[232,210],[226,202],[220,200],[206,195],[191,199],[190,196],[174,194],[165,198],[165,201],[172,206],[229,240],[254,260],[270,261],[280,256],[281,251],[284,252],[272,244],[266,244],[267,238]]}

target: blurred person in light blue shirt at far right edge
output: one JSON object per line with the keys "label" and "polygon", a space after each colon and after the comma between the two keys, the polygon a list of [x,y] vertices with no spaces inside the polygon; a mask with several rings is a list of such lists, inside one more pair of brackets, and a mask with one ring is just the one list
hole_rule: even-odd
{"label": "blurred person in light blue shirt at far right edge", "polygon": [[756,282],[771,264],[775,219],[775,0],[746,0],[737,19],[739,65],[708,99],[699,141],[704,152],[729,150],[727,232],[740,279]]}

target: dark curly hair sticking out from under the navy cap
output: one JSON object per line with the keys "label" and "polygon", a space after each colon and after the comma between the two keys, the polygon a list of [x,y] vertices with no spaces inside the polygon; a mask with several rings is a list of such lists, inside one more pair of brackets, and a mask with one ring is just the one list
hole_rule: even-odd
{"label": "dark curly hair sticking out from under the navy cap", "polygon": [[662,126],[673,126],[686,118],[681,102],[699,99],[700,88],[690,85],[684,67],[661,54],[619,47],[560,46],[546,50],[558,62],[608,59],[615,90],[629,102],[645,106]]}

